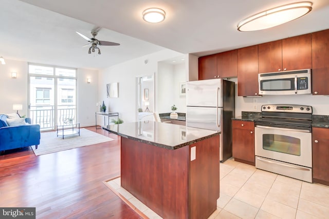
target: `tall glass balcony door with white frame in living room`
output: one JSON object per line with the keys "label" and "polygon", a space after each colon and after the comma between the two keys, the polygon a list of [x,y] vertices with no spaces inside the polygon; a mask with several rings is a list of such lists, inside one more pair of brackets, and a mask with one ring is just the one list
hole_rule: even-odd
{"label": "tall glass balcony door with white frame in living room", "polygon": [[41,130],[77,121],[77,70],[29,64],[29,117]]}

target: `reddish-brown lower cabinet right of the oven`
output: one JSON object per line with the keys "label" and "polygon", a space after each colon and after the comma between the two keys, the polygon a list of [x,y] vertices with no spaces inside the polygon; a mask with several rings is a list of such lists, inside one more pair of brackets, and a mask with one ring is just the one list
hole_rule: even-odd
{"label": "reddish-brown lower cabinet right of the oven", "polygon": [[312,128],[313,182],[329,186],[329,129]]}

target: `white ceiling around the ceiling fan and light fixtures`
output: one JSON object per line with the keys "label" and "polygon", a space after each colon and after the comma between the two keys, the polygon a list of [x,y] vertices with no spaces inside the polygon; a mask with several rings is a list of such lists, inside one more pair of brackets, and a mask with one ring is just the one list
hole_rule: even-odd
{"label": "white ceiling around the ceiling fan and light fixtures", "polygon": [[[24,3],[25,2],[25,3]],[[313,10],[287,24],[254,32],[236,25],[252,14],[296,1],[286,0],[0,0],[0,56],[28,62],[101,69],[164,48],[197,56],[329,29],[329,0],[313,0]],[[29,4],[33,5],[29,5]],[[39,8],[41,7],[41,8]],[[141,13],[166,11],[164,22],[150,24]],[[88,54],[75,31],[120,43]]]}

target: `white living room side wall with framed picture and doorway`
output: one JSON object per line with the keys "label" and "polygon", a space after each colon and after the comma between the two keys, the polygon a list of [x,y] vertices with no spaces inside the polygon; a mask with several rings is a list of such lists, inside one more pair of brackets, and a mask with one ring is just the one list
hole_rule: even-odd
{"label": "white living room side wall with framed picture and doorway", "polygon": [[[98,79],[98,101],[104,101],[109,111],[119,112],[119,117],[124,121],[124,123],[135,122],[137,121],[136,77],[154,74],[155,110],[157,110],[157,104],[161,101],[161,99],[158,98],[158,93],[156,92],[158,83],[161,83],[157,79],[158,62],[168,58],[177,57],[179,55],[182,54],[173,50],[165,49],[101,70]],[[145,64],[145,60],[148,61],[147,64]],[[119,83],[119,97],[107,98],[106,84],[113,82]]]}

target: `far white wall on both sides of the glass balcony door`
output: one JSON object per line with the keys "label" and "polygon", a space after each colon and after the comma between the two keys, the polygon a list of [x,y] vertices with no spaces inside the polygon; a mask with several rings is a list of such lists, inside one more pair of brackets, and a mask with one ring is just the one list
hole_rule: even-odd
{"label": "far white wall on both sides of the glass balcony door", "polygon": [[[11,72],[17,72],[17,78],[11,78]],[[87,77],[92,82],[87,84]],[[98,96],[98,71],[78,69],[78,121],[81,127],[95,125],[95,112]],[[28,110],[28,63],[6,59],[6,65],[0,65],[0,113],[12,113],[13,104],[23,104],[20,115]],[[106,93],[105,93],[106,95]]]}

